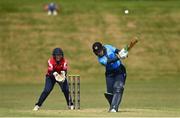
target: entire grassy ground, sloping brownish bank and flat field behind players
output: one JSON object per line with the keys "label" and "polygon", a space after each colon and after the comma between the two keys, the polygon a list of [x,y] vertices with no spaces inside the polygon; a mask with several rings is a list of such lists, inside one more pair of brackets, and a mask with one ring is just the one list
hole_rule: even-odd
{"label": "entire grassy ground, sloping brownish bank and flat field behind players", "polygon": [[[43,11],[48,2],[0,1],[0,116],[180,116],[180,1],[56,0],[62,6],[56,17]],[[140,41],[123,61],[128,78],[121,112],[107,113],[104,68],[91,45],[122,48],[135,36]],[[55,47],[63,48],[68,73],[81,75],[82,110],[66,110],[56,87],[35,113]]]}

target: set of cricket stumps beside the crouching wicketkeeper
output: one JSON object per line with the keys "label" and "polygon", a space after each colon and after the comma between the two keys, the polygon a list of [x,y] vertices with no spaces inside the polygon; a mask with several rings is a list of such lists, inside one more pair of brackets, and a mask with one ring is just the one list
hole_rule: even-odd
{"label": "set of cricket stumps beside the crouching wicketkeeper", "polygon": [[68,84],[69,84],[69,106],[71,105],[71,96],[72,96],[74,109],[80,109],[80,75],[69,75]]}

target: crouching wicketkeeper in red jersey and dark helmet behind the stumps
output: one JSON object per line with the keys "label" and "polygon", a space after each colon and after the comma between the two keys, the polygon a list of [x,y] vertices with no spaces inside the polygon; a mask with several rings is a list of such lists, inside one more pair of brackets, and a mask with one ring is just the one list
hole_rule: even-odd
{"label": "crouching wicketkeeper in red jersey and dark helmet behind the stumps", "polygon": [[64,58],[64,54],[61,48],[55,48],[52,52],[52,57],[48,60],[48,70],[45,78],[45,87],[38,102],[35,104],[34,111],[39,110],[43,102],[46,100],[50,92],[52,91],[55,83],[58,83],[62,92],[64,93],[67,105],[70,109],[73,109],[72,100],[69,106],[69,87],[66,79],[67,74],[67,61]]}

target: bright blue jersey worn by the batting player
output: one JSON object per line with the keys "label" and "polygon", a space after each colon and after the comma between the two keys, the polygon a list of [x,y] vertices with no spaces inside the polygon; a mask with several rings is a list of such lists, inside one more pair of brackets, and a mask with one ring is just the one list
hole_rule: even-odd
{"label": "bright blue jersey worn by the batting player", "polygon": [[[121,65],[121,61],[117,59],[116,48],[111,45],[104,45],[106,53],[102,57],[98,57],[99,63],[106,67],[106,71],[111,71],[117,69]],[[108,60],[114,60],[111,63],[108,63]]]}

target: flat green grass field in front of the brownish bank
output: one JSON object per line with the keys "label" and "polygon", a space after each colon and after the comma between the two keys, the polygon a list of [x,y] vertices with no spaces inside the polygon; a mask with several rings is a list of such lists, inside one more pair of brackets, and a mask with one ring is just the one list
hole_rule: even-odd
{"label": "flat green grass field in front of the brownish bank", "polygon": [[[173,77],[173,75],[161,75]],[[179,76],[179,75],[176,75]],[[108,113],[103,96],[104,79],[81,81],[81,110],[67,109],[63,94],[56,85],[54,91],[38,112],[32,108],[43,84],[4,84],[0,86],[0,116],[179,116],[179,79],[134,79],[129,74],[120,112]]]}

